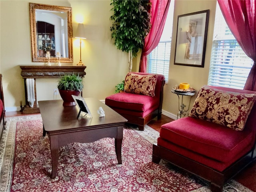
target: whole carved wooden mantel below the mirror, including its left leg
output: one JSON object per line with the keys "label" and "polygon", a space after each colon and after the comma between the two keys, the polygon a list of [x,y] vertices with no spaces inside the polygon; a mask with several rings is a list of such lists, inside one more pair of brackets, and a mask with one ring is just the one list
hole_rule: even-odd
{"label": "whole carved wooden mantel below the mirror, including its left leg", "polygon": [[[26,105],[21,106],[21,111],[23,114],[39,113],[39,107],[37,106],[36,100],[36,79],[37,78],[60,78],[64,74],[79,74],[79,76],[84,77],[86,72],[86,66],[77,65],[63,65],[63,66],[46,66],[46,65],[20,65],[21,76],[24,79],[25,85],[25,98]],[[28,93],[26,86],[26,79],[34,79],[34,93],[35,102],[34,106],[30,106],[28,102]]]}

